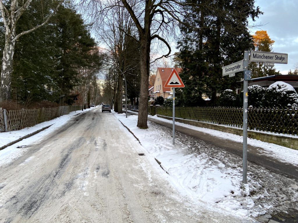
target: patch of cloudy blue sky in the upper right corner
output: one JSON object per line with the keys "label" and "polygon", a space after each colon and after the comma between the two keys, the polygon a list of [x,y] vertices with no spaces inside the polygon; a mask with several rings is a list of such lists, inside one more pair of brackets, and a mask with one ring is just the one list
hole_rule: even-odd
{"label": "patch of cloudy blue sky in the upper right corner", "polygon": [[264,12],[256,18],[256,24],[263,26],[252,29],[252,34],[257,30],[266,30],[269,37],[275,41],[272,51],[288,54],[288,64],[275,64],[276,70],[287,74],[294,70],[298,64],[298,3],[297,0],[256,0]]}

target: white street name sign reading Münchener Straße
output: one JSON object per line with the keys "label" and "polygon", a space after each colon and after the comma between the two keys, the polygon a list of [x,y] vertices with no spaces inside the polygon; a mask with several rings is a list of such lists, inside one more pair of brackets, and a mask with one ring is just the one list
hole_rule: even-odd
{"label": "white street name sign reading M\u00fcnchener Stra\u00dfe", "polygon": [[263,51],[250,51],[250,62],[268,62],[276,64],[287,64],[288,54],[263,52]]}

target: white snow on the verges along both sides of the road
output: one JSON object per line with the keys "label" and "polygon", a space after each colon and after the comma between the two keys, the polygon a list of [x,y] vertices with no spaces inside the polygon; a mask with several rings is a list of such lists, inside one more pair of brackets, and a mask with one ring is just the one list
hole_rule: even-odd
{"label": "white snow on the verges along both sides of the road", "polygon": [[[89,110],[84,110],[84,112]],[[24,142],[29,144],[41,140],[81,112],[71,112],[68,115],[20,131],[0,133],[1,147],[8,142],[53,124],[41,133],[26,139],[26,141],[23,140],[0,150],[0,166],[21,156],[26,150],[26,148],[22,148]],[[176,145],[173,145],[169,128],[148,122],[148,129],[139,129],[136,127],[137,115],[130,115],[128,118],[125,118],[125,114],[114,113],[114,115],[139,139],[145,149],[145,155],[149,159],[154,160],[156,158],[161,162],[161,167],[169,174],[168,179],[170,179],[171,184],[182,194],[189,196],[190,199],[204,201],[208,206],[222,208],[240,217],[258,216],[268,212],[286,210],[289,207],[298,209],[297,181],[249,164],[248,184],[244,185],[241,183],[242,160],[239,160],[239,157],[179,133],[176,134]],[[152,118],[160,119],[156,116]],[[170,120],[161,120],[172,123]],[[178,122],[176,125],[242,142],[242,136]],[[264,153],[267,153],[268,156],[295,165],[298,164],[297,150],[254,139],[248,139],[248,144],[263,148]]]}

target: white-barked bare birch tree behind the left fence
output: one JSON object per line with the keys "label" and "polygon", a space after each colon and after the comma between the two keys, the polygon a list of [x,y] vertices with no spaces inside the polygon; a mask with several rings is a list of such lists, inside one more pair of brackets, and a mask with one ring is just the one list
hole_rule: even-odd
{"label": "white-barked bare birch tree behind the left fence", "polygon": [[11,76],[13,71],[13,54],[15,51],[15,43],[19,37],[28,34],[41,26],[44,26],[49,19],[56,13],[64,0],[58,1],[57,7],[52,10],[45,18],[44,22],[20,33],[16,32],[16,26],[21,19],[22,14],[28,9],[32,0],[27,1],[3,1],[0,0],[0,10],[2,21],[5,28],[5,44],[3,49],[3,60],[0,77],[0,102],[10,97]]}

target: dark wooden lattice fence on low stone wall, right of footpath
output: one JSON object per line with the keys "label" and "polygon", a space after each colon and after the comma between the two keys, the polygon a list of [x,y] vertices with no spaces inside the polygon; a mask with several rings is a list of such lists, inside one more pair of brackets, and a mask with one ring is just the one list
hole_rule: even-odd
{"label": "dark wooden lattice fence on low stone wall, right of footpath", "polygon": [[[151,108],[150,111],[153,111]],[[158,107],[156,114],[172,117],[172,107]],[[243,126],[242,108],[176,107],[175,118],[198,122]],[[248,129],[271,133],[298,135],[297,108],[248,108]]]}

